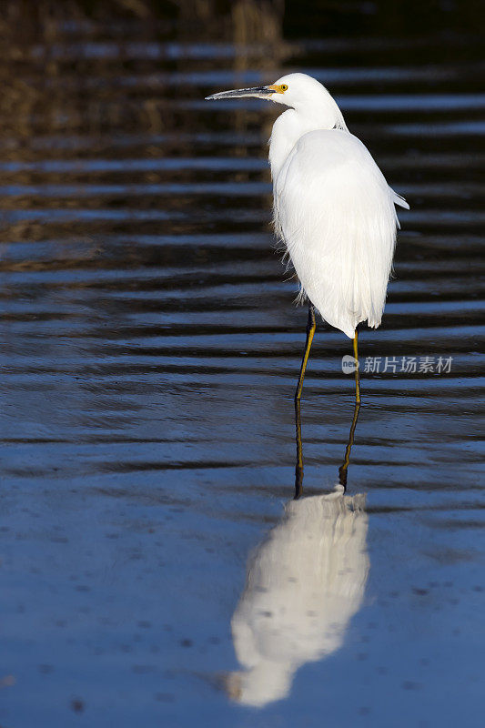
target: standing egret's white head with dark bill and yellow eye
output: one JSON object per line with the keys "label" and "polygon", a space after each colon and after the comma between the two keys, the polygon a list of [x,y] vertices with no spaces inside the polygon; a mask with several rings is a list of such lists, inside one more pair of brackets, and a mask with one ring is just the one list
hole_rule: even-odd
{"label": "standing egret's white head with dark bill and yellow eye", "polygon": [[296,111],[305,114],[327,114],[328,109],[336,116],[336,123],[345,128],[345,123],[333,98],[328,94],[316,78],[307,74],[288,74],[281,76],[278,81],[268,86],[253,86],[252,88],[237,88],[233,91],[220,91],[218,94],[206,96],[207,101],[218,101],[224,98],[264,98],[276,104],[290,106]]}

